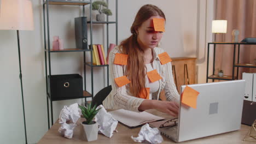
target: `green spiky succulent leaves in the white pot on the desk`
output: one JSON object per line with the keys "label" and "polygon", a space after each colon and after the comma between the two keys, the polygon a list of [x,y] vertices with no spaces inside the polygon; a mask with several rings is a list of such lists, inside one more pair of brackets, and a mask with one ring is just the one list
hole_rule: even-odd
{"label": "green spiky succulent leaves in the white pot on the desk", "polygon": [[83,124],[94,124],[92,119],[94,119],[94,117],[97,115],[98,111],[100,111],[101,108],[96,110],[96,104],[93,107],[91,107],[91,104],[89,104],[88,107],[81,105],[78,106],[81,109],[84,118],[86,119]]}

